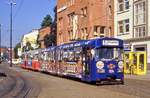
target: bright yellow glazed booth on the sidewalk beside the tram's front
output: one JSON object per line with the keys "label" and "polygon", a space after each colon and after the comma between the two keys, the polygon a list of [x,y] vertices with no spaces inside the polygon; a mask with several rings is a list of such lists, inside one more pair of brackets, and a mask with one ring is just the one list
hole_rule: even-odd
{"label": "bright yellow glazed booth on the sidewalk beside the tram's front", "polygon": [[125,52],[124,53],[124,73],[145,75],[147,70],[146,52]]}

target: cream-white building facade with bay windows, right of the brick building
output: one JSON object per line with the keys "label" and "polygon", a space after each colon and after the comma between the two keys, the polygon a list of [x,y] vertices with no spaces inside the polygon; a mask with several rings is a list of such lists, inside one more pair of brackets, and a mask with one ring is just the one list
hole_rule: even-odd
{"label": "cream-white building facade with bay windows, right of the brick building", "polygon": [[146,51],[150,68],[150,0],[114,0],[115,37],[132,51]]}

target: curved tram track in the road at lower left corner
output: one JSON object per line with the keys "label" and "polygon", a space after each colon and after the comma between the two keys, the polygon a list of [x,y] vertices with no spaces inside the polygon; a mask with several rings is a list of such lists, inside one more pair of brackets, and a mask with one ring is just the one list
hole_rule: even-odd
{"label": "curved tram track in the road at lower left corner", "polygon": [[[1,67],[0,67],[1,68]],[[2,67],[3,68],[3,67]],[[7,81],[2,86],[0,98],[37,98],[40,93],[40,85],[30,81],[19,72],[3,68],[7,74]]]}

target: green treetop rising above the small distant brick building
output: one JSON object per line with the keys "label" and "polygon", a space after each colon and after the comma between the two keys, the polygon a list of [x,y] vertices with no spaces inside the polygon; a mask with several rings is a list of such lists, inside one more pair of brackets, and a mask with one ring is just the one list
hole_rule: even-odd
{"label": "green treetop rising above the small distant brick building", "polygon": [[41,28],[51,26],[52,22],[53,22],[52,17],[49,14],[46,15],[41,23]]}

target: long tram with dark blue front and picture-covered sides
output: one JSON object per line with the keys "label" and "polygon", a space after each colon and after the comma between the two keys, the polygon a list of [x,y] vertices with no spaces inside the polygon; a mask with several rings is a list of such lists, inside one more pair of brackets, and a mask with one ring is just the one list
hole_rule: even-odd
{"label": "long tram with dark blue front and picture-covered sides", "polygon": [[[32,54],[36,54],[37,67]],[[81,40],[38,50],[38,53],[27,52],[23,57],[28,57],[23,59],[23,68],[79,78],[86,82],[124,83],[123,41],[120,39]]]}

